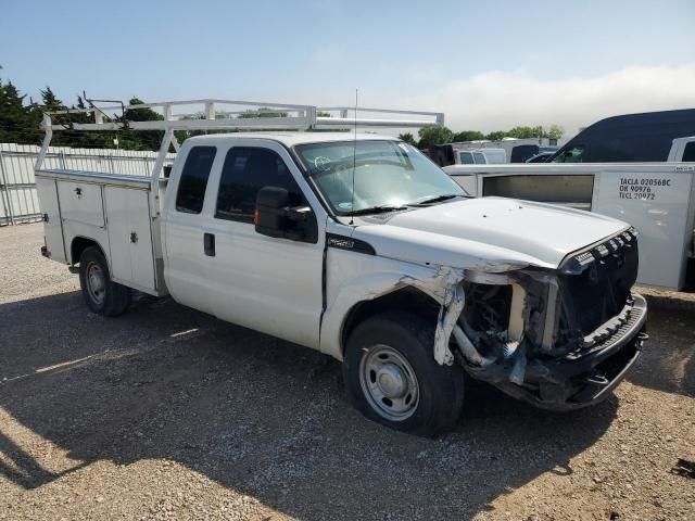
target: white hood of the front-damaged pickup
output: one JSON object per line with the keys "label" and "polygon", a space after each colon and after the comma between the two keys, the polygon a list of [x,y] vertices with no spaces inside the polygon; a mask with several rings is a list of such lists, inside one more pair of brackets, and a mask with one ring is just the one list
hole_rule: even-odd
{"label": "white hood of the front-damaged pickup", "polygon": [[469,268],[533,265],[557,268],[570,253],[629,228],[581,209],[506,198],[467,199],[361,226],[353,238],[378,255]]}

